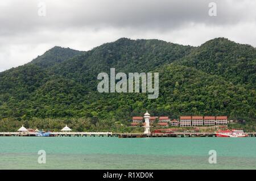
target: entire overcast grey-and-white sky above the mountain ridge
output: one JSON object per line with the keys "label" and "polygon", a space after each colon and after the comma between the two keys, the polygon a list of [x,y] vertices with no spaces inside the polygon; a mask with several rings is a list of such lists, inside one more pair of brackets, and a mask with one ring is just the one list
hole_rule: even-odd
{"label": "entire overcast grey-and-white sky above the mountain ridge", "polygon": [[89,50],[120,37],[194,46],[227,37],[256,47],[255,9],[255,0],[1,0],[0,71],[55,45]]}

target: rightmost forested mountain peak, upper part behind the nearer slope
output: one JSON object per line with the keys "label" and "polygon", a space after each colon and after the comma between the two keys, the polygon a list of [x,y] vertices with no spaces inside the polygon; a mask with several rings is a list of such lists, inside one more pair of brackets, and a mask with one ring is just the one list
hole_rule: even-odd
{"label": "rightmost forested mountain peak, upper part behind the nearer slope", "polygon": [[255,89],[256,48],[225,38],[209,40],[195,48],[179,64],[221,75],[235,84],[250,84]]}

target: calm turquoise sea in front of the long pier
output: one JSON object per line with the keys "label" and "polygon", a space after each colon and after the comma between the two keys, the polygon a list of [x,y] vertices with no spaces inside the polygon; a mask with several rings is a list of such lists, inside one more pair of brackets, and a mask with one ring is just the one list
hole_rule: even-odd
{"label": "calm turquoise sea in front of the long pier", "polygon": [[256,169],[256,138],[0,137],[0,169]]}

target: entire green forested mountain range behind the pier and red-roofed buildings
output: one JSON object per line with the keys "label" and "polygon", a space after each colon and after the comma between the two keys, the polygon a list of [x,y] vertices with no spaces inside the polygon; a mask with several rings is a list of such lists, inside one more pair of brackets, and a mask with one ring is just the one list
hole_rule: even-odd
{"label": "entire green forested mountain range behind the pier and red-roofed buildings", "polygon": [[[54,47],[27,65],[0,73],[0,129],[105,130],[131,116],[228,115],[255,124],[256,50],[224,38],[200,47],[119,39],[88,52]],[[99,93],[98,73],[159,72],[159,98]],[[47,123],[46,123],[47,122]],[[43,124],[45,123],[45,124]]]}

